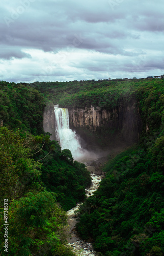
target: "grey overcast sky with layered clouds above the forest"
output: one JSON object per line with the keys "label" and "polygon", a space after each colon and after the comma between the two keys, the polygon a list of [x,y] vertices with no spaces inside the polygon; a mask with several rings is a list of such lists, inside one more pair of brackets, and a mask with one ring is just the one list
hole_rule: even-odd
{"label": "grey overcast sky with layered clouds above the forest", "polygon": [[3,0],[0,80],[164,74],[163,0]]}

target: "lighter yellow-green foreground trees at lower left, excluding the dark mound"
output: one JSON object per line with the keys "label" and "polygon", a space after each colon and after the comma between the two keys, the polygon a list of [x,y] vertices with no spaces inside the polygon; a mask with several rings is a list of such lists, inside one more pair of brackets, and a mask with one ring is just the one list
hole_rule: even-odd
{"label": "lighter yellow-green foreground trees at lower left, excluding the dark mound", "polygon": [[[74,255],[66,246],[67,217],[57,203],[58,195],[46,190],[41,180],[43,164],[31,158],[42,152],[38,142],[48,144],[49,136],[34,137],[1,127],[0,138],[1,255]],[[59,147],[52,143],[49,155]]]}

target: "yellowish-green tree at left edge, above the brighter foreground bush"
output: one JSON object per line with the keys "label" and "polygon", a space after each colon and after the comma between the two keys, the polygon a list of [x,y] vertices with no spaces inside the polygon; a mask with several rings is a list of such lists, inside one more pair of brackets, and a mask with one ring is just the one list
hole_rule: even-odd
{"label": "yellowish-green tree at left edge, above the brighter foreground bush", "polygon": [[30,140],[21,138],[6,127],[0,128],[0,180],[1,200],[19,198],[31,185],[32,180],[39,179],[41,164],[29,158]]}

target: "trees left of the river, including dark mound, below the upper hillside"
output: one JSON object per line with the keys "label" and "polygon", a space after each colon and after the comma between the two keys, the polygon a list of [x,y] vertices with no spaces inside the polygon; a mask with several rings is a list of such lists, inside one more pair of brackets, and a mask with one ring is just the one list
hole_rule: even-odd
{"label": "trees left of the river, including dark mound, below the upper hillside", "polygon": [[[85,165],[73,162],[70,151],[62,152],[48,135],[1,127],[0,141],[0,208],[4,212],[8,199],[9,255],[73,255],[65,246],[67,217],[57,201],[70,209],[85,198],[85,186],[91,182]],[[2,248],[3,224],[4,215]]]}

